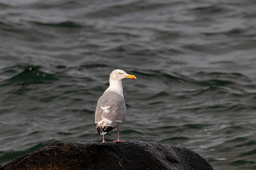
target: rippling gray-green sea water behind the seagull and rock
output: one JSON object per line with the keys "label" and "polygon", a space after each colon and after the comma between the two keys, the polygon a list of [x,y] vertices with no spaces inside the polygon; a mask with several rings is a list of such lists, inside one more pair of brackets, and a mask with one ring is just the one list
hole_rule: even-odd
{"label": "rippling gray-green sea water behind the seagull and rock", "polygon": [[[122,140],[256,169],[254,0],[1,0],[0,164],[53,142],[101,142],[98,98],[120,68]],[[117,138],[117,130],[105,135]]]}

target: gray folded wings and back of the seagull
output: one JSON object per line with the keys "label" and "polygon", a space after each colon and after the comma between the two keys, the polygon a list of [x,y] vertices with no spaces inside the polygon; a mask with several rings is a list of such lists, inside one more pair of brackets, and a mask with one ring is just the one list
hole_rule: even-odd
{"label": "gray folded wings and back of the seagull", "polygon": [[105,92],[98,100],[95,111],[95,123],[99,126],[116,127],[126,119],[124,97],[116,92]]}

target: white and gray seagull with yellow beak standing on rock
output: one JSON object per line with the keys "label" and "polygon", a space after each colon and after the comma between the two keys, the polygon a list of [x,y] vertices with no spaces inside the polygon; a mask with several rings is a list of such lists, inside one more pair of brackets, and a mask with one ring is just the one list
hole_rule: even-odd
{"label": "white and gray seagull with yellow beak standing on rock", "polygon": [[116,69],[109,76],[109,87],[99,98],[95,110],[95,123],[100,135],[109,133],[117,127],[118,138],[113,142],[125,142],[119,139],[119,123],[126,119],[126,106],[124,102],[122,80],[125,78],[137,79],[136,76]]}

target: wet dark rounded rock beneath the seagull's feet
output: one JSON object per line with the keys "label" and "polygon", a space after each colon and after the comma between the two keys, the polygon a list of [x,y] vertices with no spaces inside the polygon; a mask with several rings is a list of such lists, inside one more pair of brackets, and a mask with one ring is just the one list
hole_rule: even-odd
{"label": "wet dark rounded rock beneath the seagull's feet", "polygon": [[0,166],[0,170],[169,169],[213,170],[199,154],[154,142],[53,143]]}

